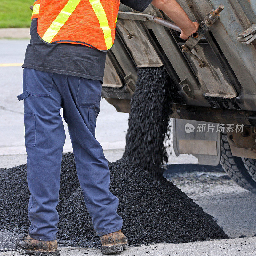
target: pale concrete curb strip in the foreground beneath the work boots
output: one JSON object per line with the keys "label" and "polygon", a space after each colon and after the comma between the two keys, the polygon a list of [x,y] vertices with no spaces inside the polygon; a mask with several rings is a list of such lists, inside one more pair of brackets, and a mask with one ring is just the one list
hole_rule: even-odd
{"label": "pale concrete curb strip in the foreground beneath the work boots", "polygon": [[[100,249],[92,248],[59,248],[60,256],[101,256]],[[192,242],[185,244],[148,244],[140,247],[129,247],[117,255],[120,256],[248,256],[255,255],[256,237],[221,239]],[[18,252],[0,252],[3,256],[21,256]]]}

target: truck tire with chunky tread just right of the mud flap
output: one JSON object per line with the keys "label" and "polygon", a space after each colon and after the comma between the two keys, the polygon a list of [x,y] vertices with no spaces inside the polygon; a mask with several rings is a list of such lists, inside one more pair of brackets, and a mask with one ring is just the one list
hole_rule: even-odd
{"label": "truck tire with chunky tread just right of the mud flap", "polygon": [[[222,134],[220,157],[220,164],[222,168],[225,170],[225,172],[227,172],[228,176],[239,186],[253,193],[256,193],[256,181],[253,180],[252,176],[248,172],[248,168],[250,167],[244,163],[246,163],[246,160],[243,161],[242,157],[232,156],[227,140],[227,134]],[[253,166],[256,168],[255,165]]]}

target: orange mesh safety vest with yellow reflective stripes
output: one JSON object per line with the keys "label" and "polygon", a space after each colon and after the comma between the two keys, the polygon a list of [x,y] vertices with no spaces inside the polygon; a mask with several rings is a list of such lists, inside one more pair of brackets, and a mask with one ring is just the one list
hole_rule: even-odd
{"label": "orange mesh safety vest with yellow reflective stripes", "polygon": [[120,0],[37,0],[32,19],[46,43],[71,43],[109,50],[115,39]]}

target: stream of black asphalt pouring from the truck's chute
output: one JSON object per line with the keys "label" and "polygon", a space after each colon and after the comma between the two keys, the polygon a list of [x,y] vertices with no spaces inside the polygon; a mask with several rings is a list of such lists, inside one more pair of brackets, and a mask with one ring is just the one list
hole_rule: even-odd
{"label": "stream of black asphalt pouring from the truck's chute", "polygon": [[123,157],[157,180],[168,162],[165,140],[176,86],[164,67],[138,68]]}

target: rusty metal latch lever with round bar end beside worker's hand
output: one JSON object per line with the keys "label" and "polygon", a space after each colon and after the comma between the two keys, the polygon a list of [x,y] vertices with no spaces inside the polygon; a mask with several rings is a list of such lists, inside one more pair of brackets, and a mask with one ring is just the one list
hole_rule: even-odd
{"label": "rusty metal latch lever with round bar end beside worker's hand", "polygon": [[224,5],[220,5],[216,10],[212,9],[211,12],[204,18],[198,28],[198,36],[190,36],[185,44],[183,44],[182,52],[188,53],[192,58],[194,58],[198,63],[200,68],[206,67],[203,60],[199,59],[191,50],[196,46],[199,40],[204,36],[204,34],[211,28],[212,24],[220,17],[220,12],[224,9]]}

